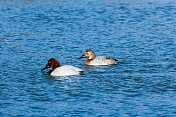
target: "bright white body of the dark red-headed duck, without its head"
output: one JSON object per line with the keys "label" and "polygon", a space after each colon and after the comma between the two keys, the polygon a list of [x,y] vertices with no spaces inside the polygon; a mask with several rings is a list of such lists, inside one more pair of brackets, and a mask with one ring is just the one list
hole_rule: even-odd
{"label": "bright white body of the dark red-headed duck, without its head", "polygon": [[69,76],[69,75],[80,75],[84,71],[80,68],[71,66],[71,65],[64,65],[61,67],[57,67],[54,71],[51,72],[50,75],[52,76]]}

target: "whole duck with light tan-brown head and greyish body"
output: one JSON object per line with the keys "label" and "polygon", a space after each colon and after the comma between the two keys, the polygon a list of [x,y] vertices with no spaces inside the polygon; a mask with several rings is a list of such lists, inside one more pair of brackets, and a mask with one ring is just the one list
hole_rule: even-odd
{"label": "whole duck with light tan-brown head and greyish body", "polygon": [[88,57],[88,59],[84,62],[86,65],[95,65],[96,66],[96,65],[118,64],[118,60],[114,59],[114,58],[110,58],[110,57],[106,57],[106,56],[95,57],[95,53],[91,49],[86,50],[86,52],[78,59],[86,58],[86,57]]}

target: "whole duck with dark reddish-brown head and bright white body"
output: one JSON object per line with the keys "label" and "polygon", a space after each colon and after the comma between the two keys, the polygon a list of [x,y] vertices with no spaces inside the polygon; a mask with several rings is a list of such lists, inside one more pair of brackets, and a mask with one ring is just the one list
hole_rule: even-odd
{"label": "whole duck with dark reddish-brown head and bright white body", "polygon": [[46,64],[46,66],[42,69],[42,71],[47,68],[51,68],[51,70],[48,71],[49,75],[51,76],[69,76],[85,74],[82,69],[79,69],[77,67],[71,65],[61,66],[60,62],[55,58],[51,58]]}

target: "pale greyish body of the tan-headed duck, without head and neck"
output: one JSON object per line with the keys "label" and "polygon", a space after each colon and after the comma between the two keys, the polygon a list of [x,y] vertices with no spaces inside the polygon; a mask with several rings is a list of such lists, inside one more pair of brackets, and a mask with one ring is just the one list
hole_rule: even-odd
{"label": "pale greyish body of the tan-headed duck, without head and neck", "polygon": [[116,59],[106,56],[98,56],[91,60],[88,65],[113,65],[117,63],[118,61]]}

